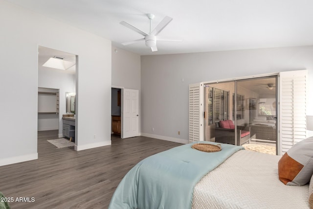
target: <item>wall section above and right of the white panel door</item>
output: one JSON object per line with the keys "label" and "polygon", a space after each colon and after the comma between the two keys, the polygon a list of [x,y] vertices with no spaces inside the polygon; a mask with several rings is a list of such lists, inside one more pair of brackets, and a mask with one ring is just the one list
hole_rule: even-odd
{"label": "wall section above and right of the white panel door", "polygon": [[[117,52],[115,52],[115,49]],[[112,86],[139,90],[139,132],[141,98],[140,55],[112,46]]]}

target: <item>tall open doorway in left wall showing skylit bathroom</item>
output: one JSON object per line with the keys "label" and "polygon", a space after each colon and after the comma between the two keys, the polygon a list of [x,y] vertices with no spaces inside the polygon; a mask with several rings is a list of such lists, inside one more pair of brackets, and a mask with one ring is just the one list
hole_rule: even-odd
{"label": "tall open doorway in left wall showing skylit bathroom", "polygon": [[[43,113],[38,115],[38,131],[47,131],[50,139],[71,139],[77,143],[75,140],[77,139],[77,136],[75,137],[77,59],[78,56],[75,54],[38,46],[38,87],[40,87],[38,89],[38,112],[47,108],[50,112],[49,115]],[[48,98],[47,92],[52,92],[49,94],[52,94],[53,98],[51,95]],[[52,121],[52,117],[54,125],[42,129],[47,119]],[[65,126],[64,117],[71,117],[70,121],[68,119],[70,125]],[[67,134],[69,132],[70,134]],[[45,133],[40,133],[39,136],[43,134]]]}

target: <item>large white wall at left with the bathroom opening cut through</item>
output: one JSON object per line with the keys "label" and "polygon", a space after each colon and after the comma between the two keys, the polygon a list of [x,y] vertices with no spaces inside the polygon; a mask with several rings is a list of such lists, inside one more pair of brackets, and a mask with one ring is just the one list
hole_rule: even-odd
{"label": "large white wall at left with the bathroom opening cut through", "polygon": [[4,0],[0,19],[0,165],[38,158],[39,45],[79,56],[75,149],[111,144],[111,41]]}

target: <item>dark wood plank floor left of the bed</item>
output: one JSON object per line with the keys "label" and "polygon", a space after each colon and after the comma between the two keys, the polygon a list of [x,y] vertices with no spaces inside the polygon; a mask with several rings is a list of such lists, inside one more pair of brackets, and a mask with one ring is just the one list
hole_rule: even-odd
{"label": "dark wood plank floor left of the bed", "polygon": [[77,152],[46,141],[57,139],[57,133],[38,132],[38,160],[0,166],[0,191],[6,197],[35,198],[12,202],[12,209],[106,209],[115,188],[136,163],[181,145],[112,136],[112,145]]}

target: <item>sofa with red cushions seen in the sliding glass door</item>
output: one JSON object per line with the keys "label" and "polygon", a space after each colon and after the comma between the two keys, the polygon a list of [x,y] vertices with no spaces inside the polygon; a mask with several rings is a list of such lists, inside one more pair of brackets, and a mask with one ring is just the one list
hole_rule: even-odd
{"label": "sofa with red cushions seen in the sliding glass door", "polygon": [[[237,126],[237,139],[242,145],[250,140],[250,127]],[[235,125],[232,120],[220,120],[215,123],[215,141],[219,143],[235,144]]]}

